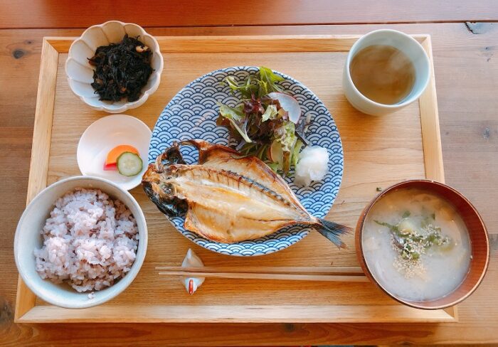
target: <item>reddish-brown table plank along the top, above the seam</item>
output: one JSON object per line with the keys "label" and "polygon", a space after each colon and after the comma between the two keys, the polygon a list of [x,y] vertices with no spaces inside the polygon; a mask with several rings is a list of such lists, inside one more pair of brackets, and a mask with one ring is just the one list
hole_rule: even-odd
{"label": "reddish-brown table plank along the top, above the seam", "polygon": [[142,26],[183,27],[462,22],[498,18],[498,7],[493,0],[272,0],[258,3],[258,6],[250,6],[242,0],[193,0],[188,3],[10,0],[3,9],[0,28],[85,28],[115,18]]}

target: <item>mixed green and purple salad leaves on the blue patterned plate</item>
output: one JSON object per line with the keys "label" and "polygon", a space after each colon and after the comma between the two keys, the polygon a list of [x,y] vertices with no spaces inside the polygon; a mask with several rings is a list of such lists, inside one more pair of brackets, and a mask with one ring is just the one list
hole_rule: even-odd
{"label": "mixed green and purple salad leaves on the blue patterned plate", "polygon": [[[249,75],[242,82],[228,76],[223,83],[233,93],[240,93],[240,103],[236,107],[218,103],[220,109],[216,124],[231,131],[231,136],[239,142],[237,149],[241,153],[258,156],[267,161],[274,171],[287,174],[290,166],[299,161],[300,150],[306,142],[304,129],[307,127],[304,119],[297,124],[291,122],[280,102],[267,96],[271,92],[284,92],[278,85],[282,80],[282,76],[264,66],[260,67],[258,74]],[[281,154],[279,149],[278,155],[272,155],[272,144],[275,142],[280,144]]]}

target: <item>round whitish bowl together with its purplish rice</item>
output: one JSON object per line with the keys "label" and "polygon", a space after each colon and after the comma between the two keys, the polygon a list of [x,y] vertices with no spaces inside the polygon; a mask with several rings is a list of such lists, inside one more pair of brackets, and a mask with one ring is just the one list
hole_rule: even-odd
{"label": "round whitish bowl together with its purplish rice", "polygon": [[[72,222],[68,222],[69,225],[71,223],[77,224],[75,222],[78,221],[81,222],[78,225],[83,225],[83,227],[78,227],[80,232],[82,231],[81,229],[85,230],[85,228],[87,231],[86,235],[78,234],[73,236],[70,231],[65,231],[68,225],[58,223],[60,216],[54,209],[64,205],[63,201],[60,201],[60,204],[62,204],[59,204],[60,207],[55,205],[59,203],[60,198],[67,193],[73,193],[78,187],[86,190],[100,190],[103,193],[101,197],[95,194],[95,203],[99,202],[96,208],[90,208],[89,206],[85,208],[85,205],[82,204],[80,206],[82,210],[80,210],[80,207],[74,209],[75,214],[78,214],[79,217],[73,218]],[[107,205],[105,204],[104,193],[109,196]],[[124,206],[118,208],[115,203],[116,200],[121,201],[126,208]],[[114,208],[115,230],[107,228],[112,225],[113,220],[112,209],[108,206],[111,201]],[[73,203],[72,206],[75,207],[75,204]],[[68,209],[69,206],[65,208]],[[76,211],[77,209],[79,212]],[[99,218],[97,216],[100,215],[100,210],[102,210],[102,215]],[[105,215],[105,218],[103,215]],[[89,224],[85,225],[83,220]],[[92,223],[95,223],[94,220],[97,220],[98,230],[92,228]],[[129,228],[129,222],[131,222],[131,225],[136,223],[134,228],[137,231],[134,232],[133,227]],[[92,229],[92,232],[88,232],[88,230]],[[90,237],[88,237],[88,234]],[[112,237],[114,237],[114,240],[111,242]],[[125,240],[124,237],[128,240]],[[137,274],[139,274],[147,255],[147,238],[147,221],[144,213],[137,200],[129,192],[105,178],[73,176],[63,178],[43,189],[26,206],[26,210],[21,215],[16,228],[14,259],[23,283],[37,297],[48,304],[68,309],[83,309],[100,305],[117,297],[132,284]],[[65,242],[65,239],[72,241]],[[80,241],[79,243],[74,242],[73,239]],[[89,242],[90,245],[95,242],[95,247],[90,246],[89,250],[85,249],[86,242]],[[110,246],[111,244],[112,247]],[[73,250],[76,247],[84,251],[80,252],[80,262],[70,260],[71,257],[68,255],[70,255],[71,247],[73,247]],[[55,256],[53,253],[49,255],[54,250]],[[134,260],[132,260],[132,252],[135,254]],[[80,264],[90,264],[88,260],[102,262],[103,265],[94,265],[97,269],[92,269],[92,272],[90,272],[86,265],[82,266]],[[65,265],[66,262],[67,265]],[[73,267],[68,266],[70,264]],[[102,269],[101,267],[108,267],[110,271],[100,272],[98,269]],[[46,279],[41,277],[40,272],[42,276],[46,276]],[[86,281],[81,278],[78,279],[82,274],[83,276],[88,276]],[[90,278],[92,274],[97,274],[97,276]],[[71,280],[71,276],[73,276],[74,280]],[[111,284],[110,287],[106,287],[105,281]],[[80,290],[86,289],[86,292],[78,292],[77,289],[71,286],[71,283],[78,286]],[[97,290],[97,285],[102,286],[102,288]],[[92,287],[94,289],[91,289]]]}

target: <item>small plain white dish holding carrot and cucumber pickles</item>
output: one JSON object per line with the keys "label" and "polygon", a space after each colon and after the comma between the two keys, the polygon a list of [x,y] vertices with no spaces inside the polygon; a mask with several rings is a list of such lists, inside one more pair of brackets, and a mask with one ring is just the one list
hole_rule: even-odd
{"label": "small plain white dish holding carrot and cucumber pickles", "polygon": [[[147,154],[152,132],[140,119],[126,114],[114,114],[90,124],[78,143],[78,167],[84,176],[96,176],[116,183],[125,191],[135,188],[142,182],[147,170]],[[115,146],[134,146],[142,158],[142,171],[136,176],[122,176],[117,171],[105,171],[107,154]]]}

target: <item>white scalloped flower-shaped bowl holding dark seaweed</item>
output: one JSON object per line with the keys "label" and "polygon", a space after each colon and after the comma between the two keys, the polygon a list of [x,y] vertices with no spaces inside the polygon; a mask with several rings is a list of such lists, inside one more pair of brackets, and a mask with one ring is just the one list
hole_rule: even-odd
{"label": "white scalloped flower-shaped bowl holding dark seaweed", "polygon": [[[95,94],[95,90],[91,85],[94,68],[88,63],[88,58],[92,58],[97,47],[122,41],[125,33],[128,36],[140,36],[139,41],[152,50],[151,65],[154,72],[150,75],[147,85],[142,88],[142,96],[139,97],[139,100],[134,102],[127,102],[126,99],[119,102],[100,101],[99,95]],[[73,42],[69,48],[68,60],[65,62],[65,73],[68,75],[71,90],[92,109],[121,113],[139,107],[157,90],[159,82],[161,82],[163,65],[164,61],[159,50],[159,43],[153,36],[146,33],[141,26],[120,21],[107,21],[97,26],[90,26],[80,38]]]}

